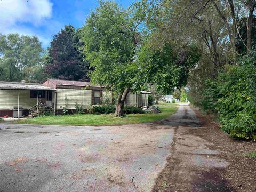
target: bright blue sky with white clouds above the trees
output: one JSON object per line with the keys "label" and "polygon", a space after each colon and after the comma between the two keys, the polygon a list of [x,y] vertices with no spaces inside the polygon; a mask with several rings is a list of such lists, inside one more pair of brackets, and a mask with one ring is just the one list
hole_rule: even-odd
{"label": "bright blue sky with white clouds above the trees", "polygon": [[[127,7],[134,0],[115,0]],[[64,25],[81,27],[97,0],[1,0],[0,33],[36,35],[44,48]]]}

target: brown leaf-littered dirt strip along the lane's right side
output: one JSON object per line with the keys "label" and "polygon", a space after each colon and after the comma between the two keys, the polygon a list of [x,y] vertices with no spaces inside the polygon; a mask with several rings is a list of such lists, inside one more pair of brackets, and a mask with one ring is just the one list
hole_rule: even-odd
{"label": "brown leaf-littered dirt strip along the lane's right side", "polygon": [[256,159],[249,154],[253,154],[253,151],[256,150],[256,142],[228,137],[220,129],[220,124],[214,121],[213,116],[202,115],[196,108],[193,108],[193,110],[197,118],[204,122],[205,128],[191,129],[189,133],[214,143],[214,146],[209,147],[220,151],[220,156],[230,162],[222,175],[228,178],[231,187],[236,191],[255,191]]}

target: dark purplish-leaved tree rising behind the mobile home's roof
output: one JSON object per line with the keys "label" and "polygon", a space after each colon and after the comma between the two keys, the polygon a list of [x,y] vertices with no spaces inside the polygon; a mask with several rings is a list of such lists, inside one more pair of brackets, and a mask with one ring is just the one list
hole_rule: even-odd
{"label": "dark purplish-leaved tree rising behind the mobile home's roof", "polygon": [[54,35],[51,46],[47,48],[45,73],[53,78],[69,80],[87,80],[89,65],[83,61],[83,55],[78,50],[79,38],[73,26]]}

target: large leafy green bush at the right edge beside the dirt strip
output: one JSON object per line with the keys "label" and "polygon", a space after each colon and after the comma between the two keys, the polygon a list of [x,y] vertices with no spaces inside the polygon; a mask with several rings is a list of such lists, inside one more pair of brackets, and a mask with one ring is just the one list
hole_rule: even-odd
{"label": "large leafy green bush at the right edge beside the dirt strip", "polygon": [[238,66],[226,66],[215,81],[208,79],[202,107],[219,114],[231,137],[256,139],[256,52]]}

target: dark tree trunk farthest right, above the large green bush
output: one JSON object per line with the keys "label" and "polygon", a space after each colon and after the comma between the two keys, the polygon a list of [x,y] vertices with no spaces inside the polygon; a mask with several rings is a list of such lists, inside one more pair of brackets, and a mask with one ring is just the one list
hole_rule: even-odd
{"label": "dark tree trunk farthest right, above the large green bush", "polygon": [[252,49],[252,27],[253,27],[253,0],[248,1],[249,17],[247,23],[247,53]]}

